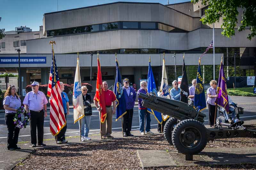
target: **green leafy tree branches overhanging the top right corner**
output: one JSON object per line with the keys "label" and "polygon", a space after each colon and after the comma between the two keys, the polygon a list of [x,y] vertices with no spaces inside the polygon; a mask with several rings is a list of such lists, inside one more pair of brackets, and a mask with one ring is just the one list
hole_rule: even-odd
{"label": "green leafy tree branches overhanging the top right corner", "polygon": [[[196,4],[199,0],[191,0],[191,2]],[[223,31],[221,34],[230,38],[230,36],[235,35],[235,26],[238,23],[238,8],[241,8],[243,13],[238,31],[241,32],[248,27],[251,33],[248,34],[247,39],[251,40],[256,36],[255,0],[201,0],[201,3],[204,6],[209,5],[208,9],[205,10],[205,17],[201,18],[203,24],[219,22],[222,17],[223,24],[221,28]]]}

